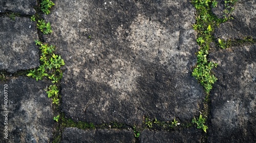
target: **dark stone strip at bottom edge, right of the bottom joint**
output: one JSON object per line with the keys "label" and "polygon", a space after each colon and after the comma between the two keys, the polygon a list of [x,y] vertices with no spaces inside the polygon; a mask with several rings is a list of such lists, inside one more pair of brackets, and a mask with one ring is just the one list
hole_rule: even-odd
{"label": "dark stone strip at bottom edge, right of the bottom joint", "polygon": [[196,128],[181,131],[149,131],[144,130],[139,136],[141,143],[146,142],[201,142],[202,130]]}

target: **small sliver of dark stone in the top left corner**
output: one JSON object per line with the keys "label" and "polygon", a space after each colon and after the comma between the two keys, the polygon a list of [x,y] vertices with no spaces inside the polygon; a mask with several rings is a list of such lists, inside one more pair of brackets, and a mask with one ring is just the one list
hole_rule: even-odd
{"label": "small sliver of dark stone in the top left corner", "polygon": [[25,15],[33,15],[35,14],[33,7],[36,5],[36,0],[0,0],[0,13],[12,11]]}

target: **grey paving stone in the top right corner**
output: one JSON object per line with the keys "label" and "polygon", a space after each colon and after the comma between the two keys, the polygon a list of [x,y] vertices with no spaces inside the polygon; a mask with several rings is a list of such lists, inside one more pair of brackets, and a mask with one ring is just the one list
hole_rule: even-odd
{"label": "grey paving stone in the top right corner", "polygon": [[[220,25],[215,31],[216,38],[243,39],[246,36],[256,38],[256,1],[238,0],[231,13],[233,20]],[[218,14],[218,13],[216,13]]]}

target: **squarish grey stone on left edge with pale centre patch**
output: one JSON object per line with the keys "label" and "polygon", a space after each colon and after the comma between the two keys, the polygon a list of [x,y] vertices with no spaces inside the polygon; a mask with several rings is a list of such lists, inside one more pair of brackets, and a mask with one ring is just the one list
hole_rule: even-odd
{"label": "squarish grey stone on left edge with pale centre patch", "polygon": [[39,66],[36,23],[26,17],[0,17],[0,26],[0,70],[14,73]]}

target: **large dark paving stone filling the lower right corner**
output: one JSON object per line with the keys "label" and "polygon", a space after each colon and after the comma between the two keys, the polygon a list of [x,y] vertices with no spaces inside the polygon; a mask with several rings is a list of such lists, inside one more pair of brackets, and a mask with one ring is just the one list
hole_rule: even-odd
{"label": "large dark paving stone filling the lower right corner", "polygon": [[256,44],[210,54],[219,63],[208,142],[256,142]]}

